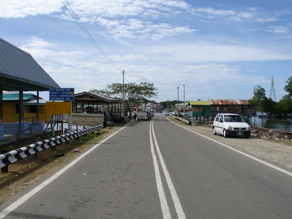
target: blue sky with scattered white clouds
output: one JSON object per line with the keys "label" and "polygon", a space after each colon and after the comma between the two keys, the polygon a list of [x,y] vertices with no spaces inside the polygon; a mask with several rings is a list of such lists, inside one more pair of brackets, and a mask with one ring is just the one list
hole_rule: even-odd
{"label": "blue sky with scattered white clouds", "polygon": [[277,101],[287,94],[291,0],[63,2],[91,40],[61,0],[1,1],[0,37],[75,93],[122,83],[124,70],[125,83],[154,83],[157,102],[183,100],[183,85],[185,101],[247,100],[257,85],[269,97],[272,76]]}

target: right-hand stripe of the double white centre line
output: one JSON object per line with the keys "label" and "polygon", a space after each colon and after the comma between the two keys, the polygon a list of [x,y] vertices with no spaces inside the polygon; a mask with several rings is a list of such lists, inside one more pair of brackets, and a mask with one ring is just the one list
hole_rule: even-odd
{"label": "right-hand stripe of the double white centre line", "polygon": [[[176,213],[177,213],[179,219],[186,219],[185,213],[183,212],[183,208],[182,208],[182,206],[180,204],[180,200],[178,198],[178,194],[175,191],[175,188],[174,188],[173,183],[171,181],[170,175],[168,173],[168,170],[167,170],[166,165],[164,163],[163,157],[161,155],[161,152],[160,152],[160,149],[159,149],[159,146],[158,146],[158,143],[157,143],[157,139],[156,139],[156,136],[154,134],[154,128],[153,128],[153,122],[152,121],[151,121],[151,124],[152,124],[152,133],[153,133],[153,138],[154,138],[154,142],[155,142],[155,145],[156,145],[157,154],[158,154],[158,157],[159,157],[159,160],[160,160],[160,163],[161,163],[161,166],[162,166],[165,178],[166,178],[166,182],[167,182],[169,191],[171,193],[171,197],[172,197],[172,200],[173,200],[173,204],[175,206]],[[151,131],[151,129],[150,129],[150,131]]]}

